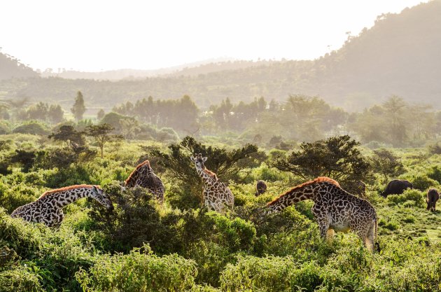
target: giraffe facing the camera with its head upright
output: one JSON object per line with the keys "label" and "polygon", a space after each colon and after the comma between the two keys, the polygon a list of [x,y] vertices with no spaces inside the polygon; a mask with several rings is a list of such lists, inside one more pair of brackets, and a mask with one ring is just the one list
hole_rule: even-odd
{"label": "giraffe facing the camera with its head upright", "polygon": [[231,193],[230,188],[225,183],[218,180],[214,172],[211,172],[204,166],[207,157],[202,157],[199,153],[195,157],[190,156],[190,160],[195,162],[196,172],[204,181],[204,204],[208,209],[214,209],[219,213],[225,213],[225,209],[233,209],[235,197]]}

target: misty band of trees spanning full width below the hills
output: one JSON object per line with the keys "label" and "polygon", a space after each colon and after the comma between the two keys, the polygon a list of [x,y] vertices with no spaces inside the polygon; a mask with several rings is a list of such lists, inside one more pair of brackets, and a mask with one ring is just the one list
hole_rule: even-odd
{"label": "misty band of trees spanning full width below the hills", "polygon": [[[99,123],[112,125],[115,134],[125,139],[176,141],[179,136],[188,134],[194,137],[230,136],[243,143],[289,148],[300,141],[349,134],[364,144],[400,147],[421,146],[441,134],[440,111],[429,105],[410,104],[395,95],[359,113],[348,113],[319,97],[307,95],[290,95],[284,102],[274,99],[268,102],[260,97],[236,104],[227,98],[206,111],[201,111],[188,95],[166,100],[148,97],[113,106],[110,113],[100,110],[96,118],[83,117],[87,96],[84,99],[81,92],[77,92],[77,106],[71,108],[79,124],[89,125],[91,118],[97,119]],[[0,124],[3,134],[15,132],[22,122],[26,123],[26,131],[31,129],[31,134],[47,132],[67,122],[58,104],[39,102],[26,109],[22,109],[22,105],[17,101],[0,107],[1,117],[8,120]],[[23,131],[21,126],[18,129]]]}

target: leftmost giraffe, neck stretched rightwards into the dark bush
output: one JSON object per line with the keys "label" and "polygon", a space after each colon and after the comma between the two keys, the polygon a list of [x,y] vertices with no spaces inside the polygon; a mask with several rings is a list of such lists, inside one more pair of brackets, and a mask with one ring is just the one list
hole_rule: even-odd
{"label": "leftmost giraffe, neck stretched rightwards into the dark bush", "polygon": [[48,190],[38,199],[15,209],[13,218],[23,218],[25,221],[43,223],[49,227],[59,226],[64,218],[63,207],[82,197],[92,197],[106,209],[113,210],[109,195],[99,186],[76,185],[65,188]]}

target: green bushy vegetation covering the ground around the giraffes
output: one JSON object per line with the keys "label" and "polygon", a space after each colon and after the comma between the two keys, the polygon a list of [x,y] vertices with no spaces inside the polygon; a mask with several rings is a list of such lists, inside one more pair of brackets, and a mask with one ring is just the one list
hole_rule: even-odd
{"label": "green bushy vegetation covering the ground around the giraffes", "polygon": [[[379,253],[370,253],[351,232],[325,242],[304,201],[279,214],[262,216],[266,202],[304,181],[308,168],[296,172],[269,167],[293,153],[318,161],[325,141],[286,151],[252,145],[228,146],[184,138],[179,144],[120,141],[104,144],[104,156],[65,167],[46,159],[51,151],[73,151],[73,143],[99,149],[92,137],[73,127],[58,128],[36,147],[34,135],[13,134],[0,155],[8,161],[0,179],[0,291],[437,291],[441,288],[440,211],[425,209],[427,188],[436,179],[439,154],[427,148],[388,148],[400,157],[398,178],[418,188],[381,197],[384,174],[374,165],[374,151],[349,137],[334,137],[336,149],[369,162],[373,176],[366,197],[379,215]],[[43,137],[40,137],[42,139]],[[341,143],[340,143],[341,142]],[[216,145],[216,146],[215,146]],[[357,150],[357,151],[356,151]],[[26,151],[26,152],[24,152]],[[223,215],[200,209],[202,186],[190,164],[192,153],[209,157],[207,167],[228,182],[235,210]],[[423,154],[424,155],[423,155]],[[34,155],[32,155],[34,154]],[[265,155],[264,155],[265,154]],[[20,158],[20,159],[19,159]],[[44,158],[44,159],[43,159]],[[139,161],[150,159],[165,181],[165,204],[143,188],[121,192],[119,181]],[[308,165],[306,163],[305,165]],[[351,168],[340,165],[349,175]],[[44,166],[44,167],[43,167]],[[349,169],[349,170],[348,170]],[[178,177],[182,174],[182,177]],[[185,175],[184,175],[185,174]],[[433,179],[430,179],[433,178]],[[255,197],[255,181],[267,181],[267,193]],[[192,181],[196,184],[192,188]],[[111,213],[92,200],[64,209],[59,228],[46,228],[8,216],[45,190],[78,183],[101,184],[111,195]]]}

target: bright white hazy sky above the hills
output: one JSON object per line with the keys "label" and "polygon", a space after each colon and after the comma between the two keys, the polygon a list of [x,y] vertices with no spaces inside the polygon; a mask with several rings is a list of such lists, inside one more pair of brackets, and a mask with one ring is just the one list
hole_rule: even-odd
{"label": "bright white hazy sky above the hills", "polygon": [[1,52],[34,69],[158,69],[217,57],[314,59],[421,0],[6,0]]}

